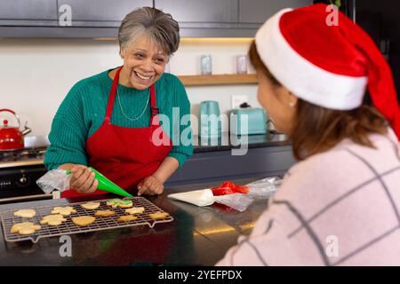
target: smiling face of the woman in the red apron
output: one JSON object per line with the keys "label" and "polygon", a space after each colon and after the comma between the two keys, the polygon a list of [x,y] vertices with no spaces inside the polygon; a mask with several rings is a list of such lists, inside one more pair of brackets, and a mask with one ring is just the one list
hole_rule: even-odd
{"label": "smiling face of the woman in the red apron", "polygon": [[168,56],[148,36],[140,36],[121,48],[124,67],[120,83],[137,90],[144,90],[163,75]]}

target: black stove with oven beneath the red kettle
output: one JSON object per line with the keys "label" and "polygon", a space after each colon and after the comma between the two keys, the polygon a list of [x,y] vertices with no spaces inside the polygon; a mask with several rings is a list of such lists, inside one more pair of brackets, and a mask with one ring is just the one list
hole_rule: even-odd
{"label": "black stove with oven beneath the red kettle", "polygon": [[36,185],[36,180],[47,172],[44,154],[50,143],[36,136],[24,140],[22,149],[0,151],[0,203],[53,198]]}

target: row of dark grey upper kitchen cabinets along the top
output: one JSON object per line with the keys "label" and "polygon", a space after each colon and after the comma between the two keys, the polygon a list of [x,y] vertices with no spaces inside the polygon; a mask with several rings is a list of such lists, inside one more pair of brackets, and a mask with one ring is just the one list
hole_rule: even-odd
{"label": "row of dark grey upper kitchen cabinets along the top", "polygon": [[[182,37],[252,37],[274,12],[311,3],[311,0],[3,0],[0,37],[114,39],[126,13],[153,4],[180,22]],[[62,22],[68,11],[65,7],[69,7],[68,25]]]}

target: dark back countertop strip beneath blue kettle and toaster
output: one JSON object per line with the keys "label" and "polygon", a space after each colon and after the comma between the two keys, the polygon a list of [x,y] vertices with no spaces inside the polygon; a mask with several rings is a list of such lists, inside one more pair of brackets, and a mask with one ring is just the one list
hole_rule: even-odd
{"label": "dark back countertop strip beneath blue kettle and toaster", "polygon": [[194,153],[226,151],[244,146],[250,149],[257,147],[291,145],[286,135],[277,134],[276,132],[248,136],[236,136],[235,134],[229,135],[228,132],[222,132],[220,138],[207,139],[195,135],[193,141]]}

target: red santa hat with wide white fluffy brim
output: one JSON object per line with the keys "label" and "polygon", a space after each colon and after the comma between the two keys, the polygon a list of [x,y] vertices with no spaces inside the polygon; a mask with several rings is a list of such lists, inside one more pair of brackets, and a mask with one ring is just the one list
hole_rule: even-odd
{"label": "red santa hat with wide white fluffy brim", "polygon": [[260,59],[300,99],[351,110],[368,87],[374,106],[400,139],[400,107],[388,62],[364,30],[341,12],[315,4],[277,12],[255,36]]}

